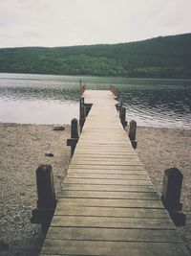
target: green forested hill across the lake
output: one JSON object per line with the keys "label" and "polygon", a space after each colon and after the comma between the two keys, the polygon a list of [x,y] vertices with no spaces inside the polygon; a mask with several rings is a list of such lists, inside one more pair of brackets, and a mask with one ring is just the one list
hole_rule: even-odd
{"label": "green forested hill across the lake", "polygon": [[3,48],[0,72],[191,79],[191,34],[119,44]]}

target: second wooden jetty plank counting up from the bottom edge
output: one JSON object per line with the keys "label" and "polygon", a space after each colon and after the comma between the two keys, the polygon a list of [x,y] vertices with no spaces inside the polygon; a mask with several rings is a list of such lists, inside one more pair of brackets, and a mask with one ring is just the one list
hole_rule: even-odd
{"label": "second wooden jetty plank counting up from the bottom edge", "polygon": [[116,241],[116,242],[171,242],[180,243],[175,230],[159,229],[122,229],[122,228],[85,228],[85,227],[53,227],[49,228],[48,239],[78,241]]}

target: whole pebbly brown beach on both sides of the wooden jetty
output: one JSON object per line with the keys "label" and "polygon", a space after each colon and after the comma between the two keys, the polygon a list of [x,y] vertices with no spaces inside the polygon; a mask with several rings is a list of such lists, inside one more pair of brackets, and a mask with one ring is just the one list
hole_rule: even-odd
{"label": "whole pebbly brown beach on both sides of the wooden jetty", "polygon": [[[67,174],[70,128],[0,124],[0,255],[38,255],[43,235],[30,222],[36,207],[35,170],[40,164],[53,166],[56,195]],[[181,238],[191,247],[191,130],[138,128],[138,155],[158,192],[163,171],[177,167],[184,175],[181,202],[187,215]],[[53,157],[45,153],[53,153]]]}

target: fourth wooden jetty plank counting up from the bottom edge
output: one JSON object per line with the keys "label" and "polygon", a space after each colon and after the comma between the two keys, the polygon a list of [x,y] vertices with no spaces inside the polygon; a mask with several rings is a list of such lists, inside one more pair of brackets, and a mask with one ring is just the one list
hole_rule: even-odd
{"label": "fourth wooden jetty plank counting up from the bottom edge", "polygon": [[93,216],[93,217],[123,217],[123,218],[141,218],[141,219],[168,219],[169,215],[165,209],[152,208],[112,208],[112,207],[94,207],[94,206],[74,206],[58,204],[55,216]]}

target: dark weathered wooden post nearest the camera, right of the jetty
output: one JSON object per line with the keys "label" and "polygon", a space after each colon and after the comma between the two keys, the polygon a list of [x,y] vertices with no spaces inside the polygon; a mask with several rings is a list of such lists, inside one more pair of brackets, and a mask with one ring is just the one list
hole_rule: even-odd
{"label": "dark weathered wooden post nearest the camera, right of the jetty", "polygon": [[180,193],[183,175],[177,168],[164,171],[161,200],[169,212],[175,225],[185,225],[185,214],[180,203]]}

